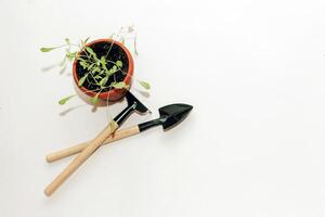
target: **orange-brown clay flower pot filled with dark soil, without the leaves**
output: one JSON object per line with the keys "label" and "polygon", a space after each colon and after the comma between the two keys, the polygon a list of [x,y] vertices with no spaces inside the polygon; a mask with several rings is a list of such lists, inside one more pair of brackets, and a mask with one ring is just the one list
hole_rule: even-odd
{"label": "orange-brown clay flower pot filled with dark soil, without the leaves", "polygon": [[[113,43],[113,46],[112,46]],[[101,58],[103,55],[106,55],[106,53],[109,51],[107,59],[116,62],[121,61],[122,62],[122,72],[117,72],[115,74],[115,80],[112,80],[113,78],[108,79],[108,82],[113,81],[125,81],[126,85],[131,84],[131,78],[133,75],[133,59],[130,53],[130,51],[120,42],[114,41],[113,39],[99,39],[94,40],[92,42],[87,43],[87,47],[90,47],[98,55],[98,58]],[[81,50],[77,55],[84,54],[84,50]],[[73,76],[76,86],[78,87],[78,81],[87,73],[86,69],[80,65],[79,61],[75,59],[73,64]],[[112,76],[113,77],[113,76]],[[94,97],[98,92],[96,87],[92,85],[91,82],[84,81],[81,87],[78,87],[84,94],[89,97]],[[120,98],[122,98],[126,93],[126,89],[116,89],[112,88],[110,90],[102,91],[99,94],[99,98],[106,101],[107,99],[109,101],[117,101]]]}

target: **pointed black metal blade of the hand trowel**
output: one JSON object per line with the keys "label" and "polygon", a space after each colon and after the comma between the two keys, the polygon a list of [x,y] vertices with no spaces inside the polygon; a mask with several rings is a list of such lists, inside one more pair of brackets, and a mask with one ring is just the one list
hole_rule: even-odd
{"label": "pointed black metal blade of the hand trowel", "polygon": [[187,114],[192,111],[193,106],[188,104],[170,104],[159,108],[160,118],[162,118],[164,130],[174,127],[181,123]]}

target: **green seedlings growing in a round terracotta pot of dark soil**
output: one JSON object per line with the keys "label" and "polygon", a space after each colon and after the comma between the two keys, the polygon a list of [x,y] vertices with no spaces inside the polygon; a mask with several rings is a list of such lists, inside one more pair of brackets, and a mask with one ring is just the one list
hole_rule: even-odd
{"label": "green seedlings growing in a round terracotta pot of dark soil", "polygon": [[[133,78],[134,63],[130,51],[125,46],[126,35],[133,34],[134,53],[136,51],[136,34],[134,28],[121,27],[117,34],[109,38],[90,41],[89,38],[79,43],[73,43],[68,38],[65,43],[57,47],[41,48],[41,52],[50,52],[65,48],[62,66],[67,61],[73,62],[73,77],[75,85],[87,95],[90,102],[96,104],[99,100],[117,101],[130,88]],[[90,41],[90,42],[89,42]],[[139,84],[150,89],[150,84],[138,80]],[[65,104],[76,94],[63,98],[60,104]]]}

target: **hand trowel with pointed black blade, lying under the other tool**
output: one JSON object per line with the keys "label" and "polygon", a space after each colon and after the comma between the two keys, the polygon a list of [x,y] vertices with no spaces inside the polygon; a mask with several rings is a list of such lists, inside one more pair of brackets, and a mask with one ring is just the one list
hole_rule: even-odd
{"label": "hand trowel with pointed black blade, lying under the other tool", "polygon": [[[159,118],[153,119],[146,123],[142,123],[140,125],[135,125],[133,127],[118,130],[114,135],[110,135],[108,138],[105,139],[103,144],[107,144],[127,137],[131,137],[138,135],[148,128],[162,125],[164,130],[169,129],[179,123],[181,123],[192,111],[193,106],[187,104],[170,104],[159,108]],[[53,152],[47,155],[47,161],[55,162],[66,156],[70,156],[81,152],[86,149],[90,142],[80,143],[57,152]]]}

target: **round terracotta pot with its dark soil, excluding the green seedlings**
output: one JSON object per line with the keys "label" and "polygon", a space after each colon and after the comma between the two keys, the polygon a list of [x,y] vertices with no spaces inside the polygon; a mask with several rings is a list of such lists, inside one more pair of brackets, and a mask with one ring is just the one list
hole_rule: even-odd
{"label": "round terracotta pot with its dark soil, excluding the green seedlings", "polygon": [[[84,65],[82,65],[81,61],[76,58],[73,65],[73,76],[76,86],[84,94],[91,98],[98,94],[99,99],[103,101],[117,101],[121,99],[127,91],[126,88],[119,89],[109,86],[114,82],[120,81],[125,81],[127,86],[130,86],[134,65],[129,50],[122,43],[112,39],[99,39],[87,43],[87,47],[92,49],[99,60],[101,60],[102,56],[105,58],[107,62],[106,68],[112,68],[114,65],[116,65],[115,63],[117,61],[121,62],[121,66],[108,77],[105,84],[101,84],[102,87],[105,88],[101,88],[101,86],[98,85],[99,81],[102,80],[103,75],[100,75],[100,73],[96,72],[92,73],[91,76],[89,76],[89,74],[82,81],[82,85],[78,85],[79,80],[90,71],[87,67],[84,68]],[[77,54],[77,56],[82,58],[83,60],[88,60],[89,55],[89,52],[86,50],[81,50]]]}

